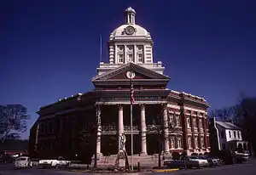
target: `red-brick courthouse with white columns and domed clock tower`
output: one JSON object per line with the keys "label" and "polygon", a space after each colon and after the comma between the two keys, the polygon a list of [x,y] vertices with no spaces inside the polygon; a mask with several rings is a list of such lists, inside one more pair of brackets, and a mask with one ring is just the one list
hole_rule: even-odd
{"label": "red-brick courthouse with white columns and domed clock tower", "polygon": [[[165,126],[162,131],[167,136],[162,137],[165,154],[210,150],[209,104],[201,97],[166,88],[171,78],[165,75],[161,61],[154,62],[153,39],[145,28],[136,24],[135,17],[133,8],[125,9],[125,24],[110,33],[108,63],[100,62],[96,69],[97,74],[91,79],[95,87],[93,91],[78,93],[40,108],[38,121],[31,129],[30,153],[33,156],[61,155],[73,159],[79,155],[82,160],[83,156],[95,151],[102,157],[117,155],[118,136],[123,133],[125,149],[130,155],[129,73],[134,75],[132,130],[135,155],[158,152],[155,126]],[[95,125],[96,121],[100,124]]]}

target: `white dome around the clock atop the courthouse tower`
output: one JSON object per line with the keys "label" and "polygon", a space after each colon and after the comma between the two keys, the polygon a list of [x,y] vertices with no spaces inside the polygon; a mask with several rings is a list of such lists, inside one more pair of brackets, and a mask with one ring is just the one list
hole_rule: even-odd
{"label": "white dome around the clock atop the courthouse tower", "polygon": [[[125,33],[125,28],[127,26],[132,26],[134,27],[135,31],[132,35],[127,35]],[[144,38],[148,38],[151,39],[149,32],[144,29],[142,26],[140,25],[135,25],[135,24],[125,24],[125,25],[120,25],[118,28],[116,28],[111,34],[110,34],[110,40],[113,40],[116,37],[144,37]]]}

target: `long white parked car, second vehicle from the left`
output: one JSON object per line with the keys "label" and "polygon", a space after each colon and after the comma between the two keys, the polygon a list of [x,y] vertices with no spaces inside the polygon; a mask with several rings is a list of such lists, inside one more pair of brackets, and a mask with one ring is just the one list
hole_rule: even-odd
{"label": "long white parked car, second vehicle from the left", "polygon": [[40,160],[38,165],[40,167],[68,167],[71,161],[65,161],[64,157],[58,157],[57,159]]}

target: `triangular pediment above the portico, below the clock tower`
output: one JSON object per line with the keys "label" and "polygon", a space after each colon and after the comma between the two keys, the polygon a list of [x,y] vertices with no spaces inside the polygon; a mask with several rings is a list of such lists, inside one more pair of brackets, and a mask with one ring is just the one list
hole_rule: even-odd
{"label": "triangular pediment above the portico, below the clock tower", "polygon": [[119,68],[108,71],[100,76],[95,76],[92,78],[92,82],[98,82],[98,81],[119,81],[119,80],[129,80],[126,76],[127,71],[133,71],[135,73],[134,80],[166,80],[169,81],[170,77],[162,75],[158,72],[148,70],[147,68],[136,65],[133,63],[128,63],[126,65],[120,66]]}

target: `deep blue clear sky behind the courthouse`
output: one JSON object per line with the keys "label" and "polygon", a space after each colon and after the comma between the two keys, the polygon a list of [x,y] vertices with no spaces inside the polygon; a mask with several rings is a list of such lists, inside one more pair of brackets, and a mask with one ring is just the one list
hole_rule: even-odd
{"label": "deep blue clear sky behind the courthouse", "polygon": [[9,0],[0,3],[0,104],[25,105],[30,128],[40,106],[93,89],[99,36],[106,62],[109,33],[130,6],[153,37],[168,88],[204,97],[209,110],[235,104],[241,91],[256,96],[253,0]]}

